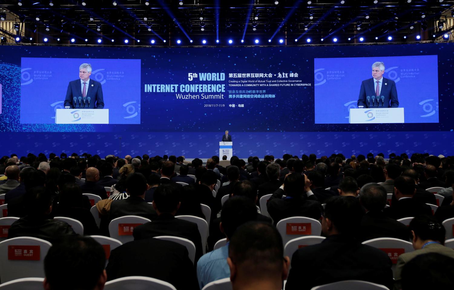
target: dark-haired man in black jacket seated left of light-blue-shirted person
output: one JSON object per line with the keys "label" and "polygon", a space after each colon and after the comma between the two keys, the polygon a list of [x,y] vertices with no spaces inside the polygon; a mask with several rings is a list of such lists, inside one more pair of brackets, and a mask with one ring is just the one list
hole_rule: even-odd
{"label": "dark-haired man in black jacket seated left of light-blue-shirted person", "polygon": [[180,207],[178,191],[172,185],[160,185],[154,191],[153,208],[158,217],[134,229],[134,241],[152,238],[155,236],[179,236],[194,243],[196,258],[202,256],[202,238],[197,224],[175,218]]}

